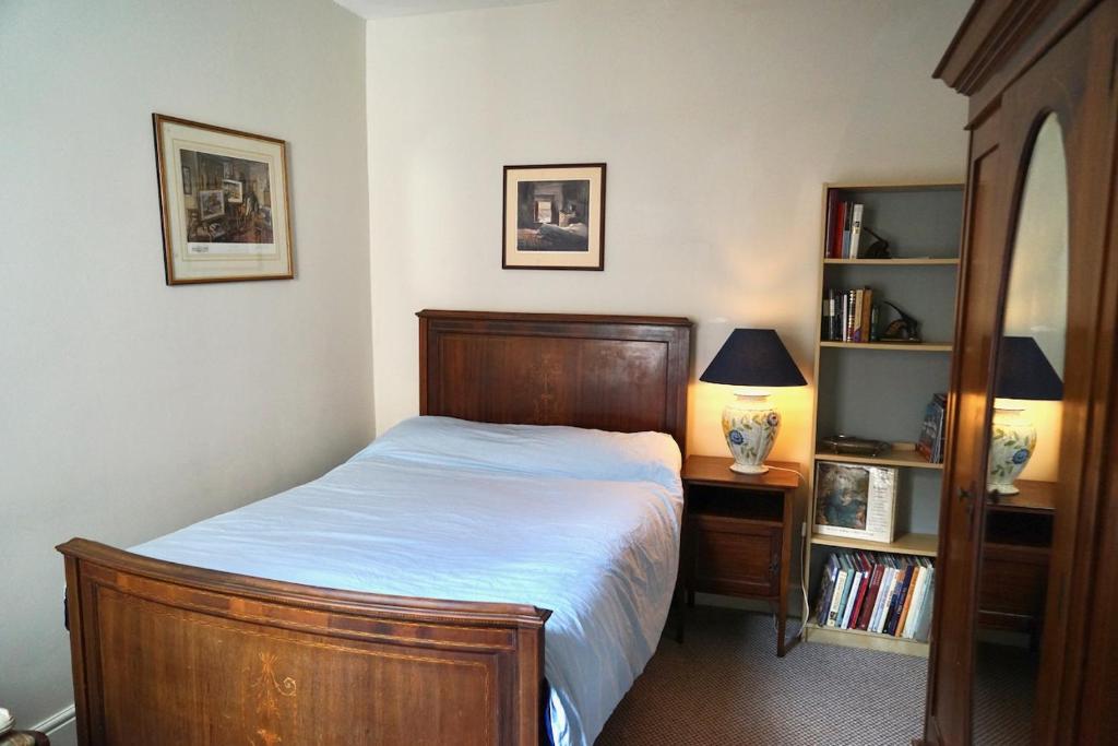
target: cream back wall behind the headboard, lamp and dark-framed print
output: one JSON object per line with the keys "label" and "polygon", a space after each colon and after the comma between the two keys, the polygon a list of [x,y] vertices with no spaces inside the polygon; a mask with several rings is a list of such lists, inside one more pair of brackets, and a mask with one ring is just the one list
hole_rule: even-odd
{"label": "cream back wall behind the headboard, lamp and dark-framed print", "polygon": [[[805,374],[822,182],[961,180],[966,103],[931,79],[967,0],[559,0],[370,21],[377,427],[417,409],[425,306],[698,322],[697,374],[736,325]],[[501,168],[608,163],[606,270],[502,271]],[[691,451],[723,453],[727,393],[692,389]],[[809,389],[775,457],[806,462]]]}

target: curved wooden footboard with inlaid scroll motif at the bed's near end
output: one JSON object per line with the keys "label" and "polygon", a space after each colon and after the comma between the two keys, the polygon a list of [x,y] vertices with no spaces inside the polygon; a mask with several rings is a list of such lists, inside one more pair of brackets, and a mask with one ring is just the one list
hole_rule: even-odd
{"label": "curved wooden footboard with inlaid scroll motif at the bed's near end", "polygon": [[83,746],[543,738],[548,611],[264,580],[85,539],[58,550]]}

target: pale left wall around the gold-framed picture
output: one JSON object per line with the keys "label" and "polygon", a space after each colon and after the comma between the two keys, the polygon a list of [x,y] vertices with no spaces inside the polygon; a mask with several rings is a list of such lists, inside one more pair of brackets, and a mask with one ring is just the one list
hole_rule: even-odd
{"label": "pale left wall around the gold-framed picture", "polygon": [[[73,701],[63,561],[372,431],[364,22],[328,0],[0,2],[0,703]],[[151,113],[290,143],[297,278],[167,287]]]}

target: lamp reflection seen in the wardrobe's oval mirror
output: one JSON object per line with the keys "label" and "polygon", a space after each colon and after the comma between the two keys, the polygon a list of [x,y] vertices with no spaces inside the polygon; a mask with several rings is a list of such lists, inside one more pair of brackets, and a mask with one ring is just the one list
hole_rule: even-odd
{"label": "lamp reflection seen in the wardrobe's oval mirror", "polygon": [[1006,399],[1059,402],[1063,381],[1032,337],[1003,337],[994,387],[986,491],[1016,494],[1013,481],[1036,451],[1036,428],[1025,408]]}

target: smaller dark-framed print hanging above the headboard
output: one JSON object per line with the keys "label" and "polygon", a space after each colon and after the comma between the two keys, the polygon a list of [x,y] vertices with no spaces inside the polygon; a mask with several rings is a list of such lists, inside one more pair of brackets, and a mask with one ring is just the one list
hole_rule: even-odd
{"label": "smaller dark-framed print hanging above the headboard", "polygon": [[605,267],[605,163],[505,166],[503,204],[503,268]]}

